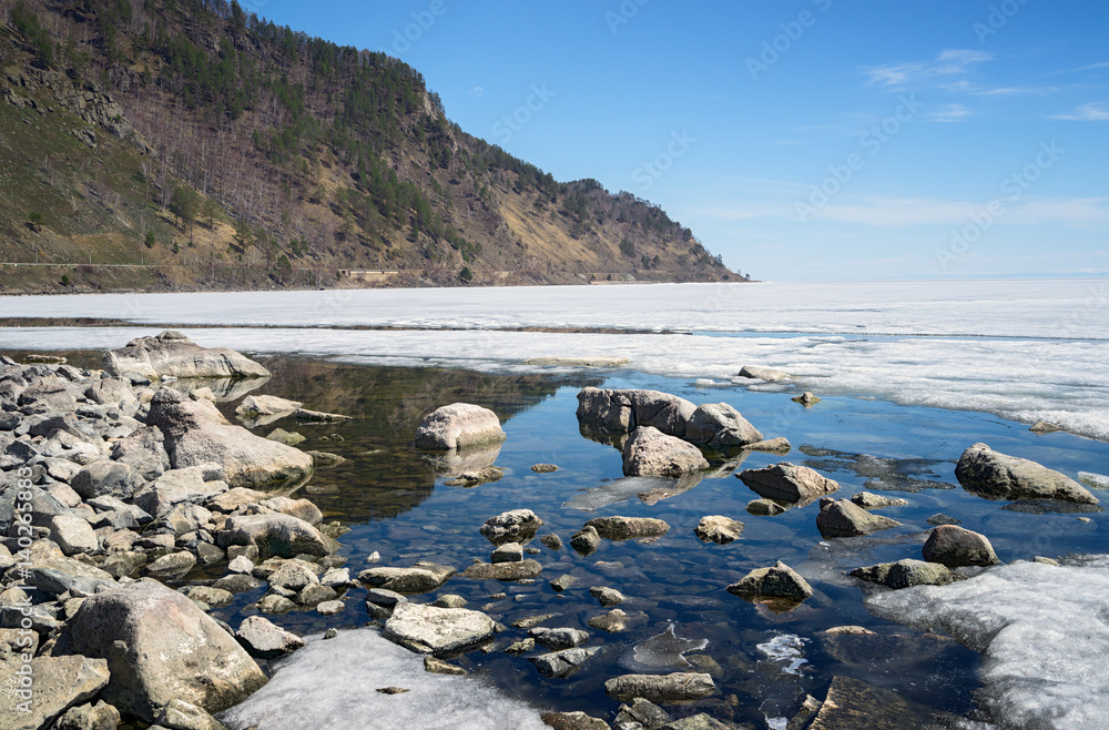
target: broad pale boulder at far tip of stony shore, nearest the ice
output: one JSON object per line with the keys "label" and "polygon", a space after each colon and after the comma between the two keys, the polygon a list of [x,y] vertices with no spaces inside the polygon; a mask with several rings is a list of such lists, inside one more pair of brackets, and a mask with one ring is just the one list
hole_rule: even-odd
{"label": "broad pale boulder at far tip of stony shore, nearest the ice", "polygon": [[226,347],[201,347],[180,332],[132,339],[104,353],[104,369],[119,377],[269,377],[269,371]]}

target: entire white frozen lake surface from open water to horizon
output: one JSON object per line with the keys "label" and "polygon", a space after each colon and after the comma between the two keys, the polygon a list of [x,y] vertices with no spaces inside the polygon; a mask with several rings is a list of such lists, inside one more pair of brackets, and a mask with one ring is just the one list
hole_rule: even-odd
{"label": "entire white frozen lake surface from open water to horizon", "polygon": [[[33,296],[0,298],[0,315],[174,324],[206,346],[366,364],[522,372],[540,369],[523,364],[533,357],[614,356],[724,385],[764,365],[817,395],[1047,420],[1109,440],[1105,280]],[[516,331],[527,327],[556,331]],[[0,347],[115,347],[152,333],[4,328]]]}

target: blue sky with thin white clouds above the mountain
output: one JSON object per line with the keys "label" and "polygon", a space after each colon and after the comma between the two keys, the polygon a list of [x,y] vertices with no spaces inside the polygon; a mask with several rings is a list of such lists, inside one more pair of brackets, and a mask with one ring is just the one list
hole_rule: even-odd
{"label": "blue sky with thin white clouds above the mountain", "polygon": [[765,280],[1109,273],[1105,0],[244,3]]}

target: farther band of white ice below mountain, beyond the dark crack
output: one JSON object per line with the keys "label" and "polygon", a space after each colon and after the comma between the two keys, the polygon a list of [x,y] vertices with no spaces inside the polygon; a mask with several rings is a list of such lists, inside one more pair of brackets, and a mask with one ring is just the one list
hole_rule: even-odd
{"label": "farther band of white ice below mountain, beyond the dark crack", "polygon": [[138,324],[619,327],[1109,337],[1105,278],[651,284],[0,297],[0,316]]}

